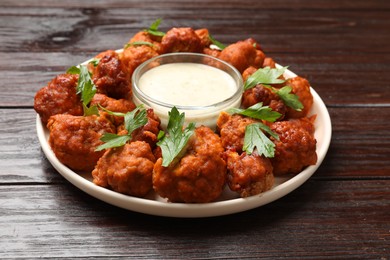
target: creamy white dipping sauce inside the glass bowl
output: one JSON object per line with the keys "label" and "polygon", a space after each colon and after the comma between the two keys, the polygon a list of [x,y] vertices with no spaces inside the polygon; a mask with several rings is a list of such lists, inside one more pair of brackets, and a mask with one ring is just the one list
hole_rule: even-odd
{"label": "creamy white dipping sauce inside the glass bowl", "polygon": [[237,91],[225,71],[198,63],[164,64],[145,72],[138,86],[146,95],[175,106],[208,106]]}

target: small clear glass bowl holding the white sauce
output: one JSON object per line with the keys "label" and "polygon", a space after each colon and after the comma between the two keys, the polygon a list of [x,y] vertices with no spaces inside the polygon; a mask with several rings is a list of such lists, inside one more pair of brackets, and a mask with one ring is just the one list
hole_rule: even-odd
{"label": "small clear glass bowl holding the white sauce", "polygon": [[[218,68],[232,77],[236,90],[228,98],[205,106],[168,104],[159,100],[158,96],[148,95],[143,92],[139,85],[142,75],[157,66],[170,63],[196,63]],[[145,61],[134,71],[132,86],[134,103],[136,105],[144,104],[147,108],[153,108],[154,113],[161,119],[163,129],[168,124],[168,112],[175,106],[180,113],[185,113],[185,124],[194,122],[197,126],[205,125],[215,130],[219,113],[232,107],[239,107],[243,93],[242,76],[232,65],[209,55],[186,52],[163,54]]]}

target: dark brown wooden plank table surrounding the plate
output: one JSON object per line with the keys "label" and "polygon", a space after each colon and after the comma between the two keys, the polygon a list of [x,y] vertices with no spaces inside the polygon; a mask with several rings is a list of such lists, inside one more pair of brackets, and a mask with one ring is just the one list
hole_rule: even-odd
{"label": "dark brown wooden plank table surrounding the plate", "polygon": [[[250,211],[144,215],[77,189],[51,166],[33,98],[55,75],[161,29],[258,40],[306,77],[332,118],[318,171]],[[0,258],[390,259],[390,1],[0,1]]]}

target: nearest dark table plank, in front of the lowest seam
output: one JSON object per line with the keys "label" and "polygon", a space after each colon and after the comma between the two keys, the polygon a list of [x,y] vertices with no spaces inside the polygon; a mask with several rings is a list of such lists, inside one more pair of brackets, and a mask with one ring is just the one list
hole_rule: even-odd
{"label": "nearest dark table plank, in front of the lowest seam", "polygon": [[309,181],[267,206],[206,219],[145,216],[71,186],[0,186],[0,256],[385,259],[389,185]]}

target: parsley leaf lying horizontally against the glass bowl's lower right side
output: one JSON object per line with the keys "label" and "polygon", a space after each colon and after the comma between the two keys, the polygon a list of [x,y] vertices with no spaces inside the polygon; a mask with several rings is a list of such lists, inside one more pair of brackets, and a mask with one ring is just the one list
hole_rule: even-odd
{"label": "parsley leaf lying horizontally against the glass bowl's lower right side", "polygon": [[230,108],[228,111],[230,114],[240,114],[243,116],[251,117],[259,120],[266,120],[269,122],[275,122],[282,114],[273,111],[269,106],[263,106],[263,103],[254,104],[247,109]]}

